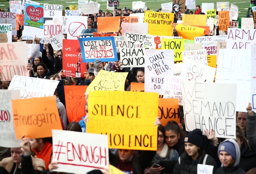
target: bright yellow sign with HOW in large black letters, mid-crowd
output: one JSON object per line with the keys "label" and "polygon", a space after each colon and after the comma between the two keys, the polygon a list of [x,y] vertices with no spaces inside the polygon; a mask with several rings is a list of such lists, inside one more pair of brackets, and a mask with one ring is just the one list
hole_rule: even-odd
{"label": "bright yellow sign with HOW in large black letters, mid-crowd", "polygon": [[181,52],[184,50],[184,39],[166,39],[162,38],[162,49],[174,50],[174,62],[182,62]]}

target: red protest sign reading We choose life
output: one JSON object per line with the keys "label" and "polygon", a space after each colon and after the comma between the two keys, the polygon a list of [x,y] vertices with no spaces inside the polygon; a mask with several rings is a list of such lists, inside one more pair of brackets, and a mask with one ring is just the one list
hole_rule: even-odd
{"label": "red protest sign reading We choose life", "polygon": [[63,76],[82,77],[86,69],[86,62],[82,62],[81,48],[78,40],[63,40]]}

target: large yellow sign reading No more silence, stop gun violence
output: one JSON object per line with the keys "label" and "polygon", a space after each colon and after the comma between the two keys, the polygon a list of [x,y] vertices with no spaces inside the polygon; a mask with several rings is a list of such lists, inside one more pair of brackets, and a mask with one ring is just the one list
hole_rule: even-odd
{"label": "large yellow sign reading No more silence, stop gun violence", "polygon": [[158,93],[92,91],[86,132],[108,135],[108,147],[157,149]]}

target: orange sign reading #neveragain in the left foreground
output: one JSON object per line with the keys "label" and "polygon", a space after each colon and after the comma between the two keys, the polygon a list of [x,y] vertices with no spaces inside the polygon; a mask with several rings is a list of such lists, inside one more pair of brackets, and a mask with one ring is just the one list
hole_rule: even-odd
{"label": "orange sign reading #neveragain in the left foreground", "polygon": [[62,130],[56,98],[40,97],[12,100],[16,138],[52,136],[52,129]]}

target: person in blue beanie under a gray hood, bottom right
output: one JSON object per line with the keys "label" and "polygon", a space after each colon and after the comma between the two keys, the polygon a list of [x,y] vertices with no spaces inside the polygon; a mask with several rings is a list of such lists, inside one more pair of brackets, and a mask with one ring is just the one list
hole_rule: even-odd
{"label": "person in blue beanie under a gray hood, bottom right", "polygon": [[245,174],[245,171],[239,167],[240,147],[234,139],[226,139],[218,147],[219,160],[222,167],[216,170],[218,174]]}

